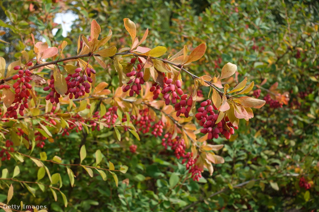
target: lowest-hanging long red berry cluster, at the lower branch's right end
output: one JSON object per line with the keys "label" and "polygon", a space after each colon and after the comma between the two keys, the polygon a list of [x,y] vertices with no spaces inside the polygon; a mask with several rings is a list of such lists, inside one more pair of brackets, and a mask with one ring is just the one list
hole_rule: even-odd
{"label": "lowest-hanging long red berry cluster, at the lower branch's right end", "polygon": [[167,145],[170,146],[171,150],[174,151],[175,157],[177,159],[183,158],[182,164],[186,163],[186,169],[189,170],[188,173],[191,173],[191,178],[193,180],[199,181],[199,178],[201,178],[201,171],[198,166],[195,164],[197,161],[197,158],[193,159],[193,153],[187,152],[185,153],[186,144],[183,139],[181,139],[179,136],[176,136],[175,138],[172,138],[171,133],[166,133],[164,135],[164,138],[161,140],[162,145],[167,149]]}

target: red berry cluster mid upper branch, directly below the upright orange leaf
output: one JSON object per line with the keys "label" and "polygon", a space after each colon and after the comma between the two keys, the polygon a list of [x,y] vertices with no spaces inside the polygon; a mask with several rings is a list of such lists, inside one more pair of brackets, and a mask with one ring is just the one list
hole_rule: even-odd
{"label": "red berry cluster mid upper branch, directly below the upright orange leaf", "polygon": [[[131,59],[131,63],[129,64],[135,64],[136,62],[136,58],[132,58]],[[131,79],[130,81],[128,81],[127,85],[122,87],[124,92],[129,91],[130,89],[130,96],[133,96],[134,93],[136,93],[137,95],[140,94],[141,89],[142,89],[142,84],[144,84],[144,72],[142,71],[143,67],[142,67],[142,61],[139,58],[139,64],[137,65],[137,69],[135,69],[135,67],[133,67],[133,70],[129,73],[126,74],[126,76],[129,76]],[[136,71],[137,70],[137,71]]]}

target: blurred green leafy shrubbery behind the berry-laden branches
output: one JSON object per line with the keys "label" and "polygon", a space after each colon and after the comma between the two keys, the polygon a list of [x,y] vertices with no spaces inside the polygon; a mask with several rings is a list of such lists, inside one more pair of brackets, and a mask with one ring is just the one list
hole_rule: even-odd
{"label": "blurred green leafy shrubbery behind the berry-laden branches", "polygon": [[[170,152],[163,151],[159,138],[144,135],[137,141],[129,133],[122,142],[116,141],[112,130],[93,132],[86,138],[87,164],[95,161],[94,152],[101,149],[105,161],[116,167],[129,166],[126,174],[119,174],[116,187],[112,176],[103,181],[99,175],[90,178],[83,169],[76,174],[75,187],[69,186],[65,170],[48,164],[52,173],[62,175],[63,193],[68,197],[64,208],[59,196],[55,202],[51,192],[39,189],[33,197],[19,184],[14,198],[29,205],[47,205],[49,211],[312,211],[319,208],[319,3],[316,0],[4,0],[0,1],[0,19],[11,28],[0,43],[0,56],[6,61],[20,57],[22,50],[30,50],[30,33],[55,46],[68,42],[65,54],[75,55],[79,34],[89,35],[94,18],[101,25],[103,37],[108,28],[113,31],[110,45],[118,49],[128,46],[130,37],[124,30],[123,18],[138,23],[140,36],[146,28],[150,34],[146,46],[162,45],[169,53],[205,42],[203,59],[189,69],[195,74],[219,74],[227,62],[238,66],[238,80],[244,77],[256,85],[269,89],[278,82],[279,93],[288,92],[290,100],[282,108],[265,105],[255,110],[255,118],[241,121],[230,141],[214,140],[225,147],[219,154],[224,164],[215,166],[213,176],[203,173],[200,182],[189,179],[184,165]],[[30,11],[30,3],[33,9]],[[7,11],[4,13],[4,11]],[[11,12],[11,14],[10,14]],[[62,37],[61,25],[54,24],[56,13],[72,12],[78,19],[67,37]],[[13,15],[12,15],[13,14]],[[52,29],[58,29],[52,34]],[[29,40],[27,40],[29,39]],[[299,53],[298,53],[299,52]],[[298,56],[300,54],[300,57]],[[108,61],[111,64],[111,61]],[[106,70],[95,67],[97,82],[107,81],[109,89],[118,87],[113,65]],[[189,76],[183,76],[191,80]],[[186,80],[184,80],[186,81]],[[187,83],[187,82],[186,82]],[[236,82],[233,82],[235,85]],[[257,88],[256,88],[257,89]],[[203,95],[209,89],[202,87]],[[41,92],[41,91],[39,91]],[[251,93],[252,94],[252,93]],[[262,90],[261,97],[268,94]],[[64,161],[79,157],[82,134],[72,132],[44,147],[48,157],[55,154]],[[137,145],[136,153],[129,146]],[[42,150],[35,149],[35,153]],[[13,172],[14,161],[2,163]],[[20,167],[25,181],[36,181],[38,167],[26,160]],[[300,188],[300,178],[311,188]],[[129,183],[121,181],[128,178]],[[48,180],[48,179],[47,179]],[[244,186],[235,185],[250,181]],[[1,182],[0,202],[6,199],[7,187]],[[218,195],[215,192],[225,189]],[[197,202],[198,201],[198,202]]]}

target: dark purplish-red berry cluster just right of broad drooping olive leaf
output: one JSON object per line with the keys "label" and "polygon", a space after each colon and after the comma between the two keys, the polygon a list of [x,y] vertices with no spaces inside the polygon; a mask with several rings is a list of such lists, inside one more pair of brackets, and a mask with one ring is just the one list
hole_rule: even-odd
{"label": "dark purplish-red berry cluster just right of broad drooping olive leaf", "polygon": [[86,68],[85,71],[82,71],[82,68],[77,68],[74,71],[75,73],[68,74],[68,76],[65,77],[68,86],[65,95],[69,95],[70,99],[73,99],[73,96],[77,99],[80,96],[84,96],[85,93],[90,93],[90,83],[93,82],[91,74],[96,73],[94,69],[90,68]]}

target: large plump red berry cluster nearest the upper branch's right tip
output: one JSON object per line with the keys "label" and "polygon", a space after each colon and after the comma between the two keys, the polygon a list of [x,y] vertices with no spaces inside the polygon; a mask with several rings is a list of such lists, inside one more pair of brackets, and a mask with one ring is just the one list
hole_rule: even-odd
{"label": "large plump red berry cluster nearest the upper branch's right tip", "polygon": [[213,109],[217,110],[214,105],[211,105],[210,99],[200,103],[200,107],[197,109],[198,113],[195,115],[196,119],[200,121],[199,125],[203,127],[200,132],[208,133],[207,139],[209,140],[218,139],[219,134],[224,135],[226,139],[230,139],[230,135],[235,133],[234,128],[237,130],[238,127],[234,127],[227,116],[216,124],[218,114],[215,114]]}

